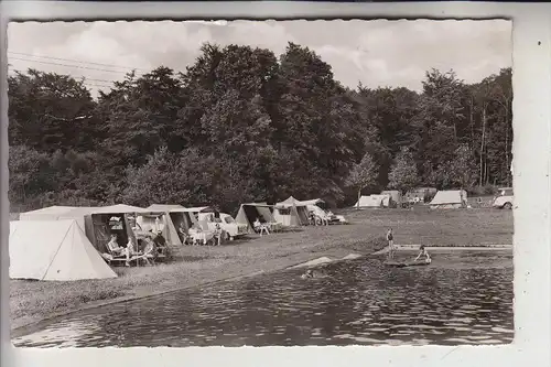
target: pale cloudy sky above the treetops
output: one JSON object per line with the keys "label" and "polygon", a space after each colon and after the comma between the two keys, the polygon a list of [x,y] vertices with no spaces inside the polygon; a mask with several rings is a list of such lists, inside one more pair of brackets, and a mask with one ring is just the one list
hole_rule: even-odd
{"label": "pale cloudy sky above the treetops", "polygon": [[[343,85],[421,90],[431,68],[477,83],[512,66],[506,20],[23,22],[8,26],[10,72],[29,67],[85,77],[96,94],[131,69],[185,71],[205,42],[269,48],[307,46]],[[10,73],[10,74],[11,74]]]}

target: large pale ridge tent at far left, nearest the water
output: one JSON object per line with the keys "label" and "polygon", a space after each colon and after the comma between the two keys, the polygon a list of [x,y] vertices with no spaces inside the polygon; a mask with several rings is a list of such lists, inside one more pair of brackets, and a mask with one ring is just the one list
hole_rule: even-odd
{"label": "large pale ridge tent at far left, nearest the water", "polygon": [[10,278],[116,278],[74,219],[10,222]]}

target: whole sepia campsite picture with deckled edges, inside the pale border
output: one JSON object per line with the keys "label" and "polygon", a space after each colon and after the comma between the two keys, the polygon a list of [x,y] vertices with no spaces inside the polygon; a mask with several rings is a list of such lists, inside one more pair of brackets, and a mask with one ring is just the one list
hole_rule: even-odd
{"label": "whole sepia campsite picture with deckled edges, inside the pale border", "polygon": [[12,344],[512,343],[511,34],[10,22]]}

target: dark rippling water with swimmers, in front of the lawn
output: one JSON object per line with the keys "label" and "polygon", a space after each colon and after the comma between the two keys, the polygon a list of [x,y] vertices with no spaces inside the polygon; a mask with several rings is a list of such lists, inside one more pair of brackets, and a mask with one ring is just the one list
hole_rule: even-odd
{"label": "dark rippling water with swimmers, in front of the lawn", "polygon": [[88,310],[15,346],[504,344],[514,337],[511,251],[432,253],[428,267],[332,263]]}

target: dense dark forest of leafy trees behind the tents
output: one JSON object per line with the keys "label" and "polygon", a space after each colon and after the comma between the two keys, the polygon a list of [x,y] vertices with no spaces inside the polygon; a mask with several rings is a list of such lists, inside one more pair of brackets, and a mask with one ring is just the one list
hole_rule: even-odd
{"label": "dense dark forest of leafy trees behind the tents", "polygon": [[47,205],[216,205],[293,195],[349,205],[358,191],[490,193],[509,185],[511,69],[477,84],[428,71],[421,93],[344,87],[293,43],[279,56],[204,44],[185,72],[85,80],[9,77],[11,211]]}

